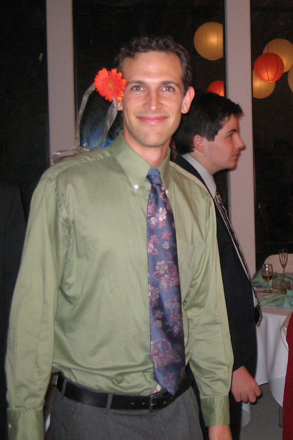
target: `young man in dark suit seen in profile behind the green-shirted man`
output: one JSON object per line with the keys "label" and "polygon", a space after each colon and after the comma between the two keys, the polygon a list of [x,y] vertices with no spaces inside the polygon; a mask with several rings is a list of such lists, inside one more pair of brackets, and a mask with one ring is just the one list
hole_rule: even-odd
{"label": "young man in dark suit seen in profile behind the green-shirted man", "polygon": [[229,395],[233,440],[240,436],[241,402],[255,402],[261,393],[253,379],[257,359],[255,322],[259,319],[259,308],[241,249],[213,180],[217,171],[235,167],[244,147],[239,136],[241,114],[239,104],[230,99],[215,93],[200,93],[195,96],[188,114],[183,115],[174,135],[179,153],[175,163],[198,177],[215,201],[217,241],[234,355]]}

